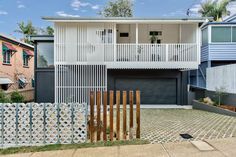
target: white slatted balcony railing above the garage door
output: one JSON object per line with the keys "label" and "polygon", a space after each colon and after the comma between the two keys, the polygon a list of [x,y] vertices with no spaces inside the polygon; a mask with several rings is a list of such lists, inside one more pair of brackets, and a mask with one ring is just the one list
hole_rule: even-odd
{"label": "white slatted balcony railing above the garage door", "polygon": [[[117,44],[104,45],[105,62],[194,62],[197,44]],[[115,56],[115,57],[114,57]]]}

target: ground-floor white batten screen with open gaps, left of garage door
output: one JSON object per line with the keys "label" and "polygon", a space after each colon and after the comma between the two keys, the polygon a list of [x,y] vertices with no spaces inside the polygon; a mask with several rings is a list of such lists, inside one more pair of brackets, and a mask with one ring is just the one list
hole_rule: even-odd
{"label": "ground-floor white batten screen with open gaps, left of garage door", "polygon": [[107,90],[105,65],[56,65],[55,102],[88,103],[90,91]]}

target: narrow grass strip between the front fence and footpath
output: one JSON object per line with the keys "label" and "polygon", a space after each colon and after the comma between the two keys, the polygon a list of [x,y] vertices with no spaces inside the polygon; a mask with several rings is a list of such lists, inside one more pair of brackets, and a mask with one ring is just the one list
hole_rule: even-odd
{"label": "narrow grass strip between the front fence and footpath", "polygon": [[143,144],[149,144],[149,142],[146,140],[130,140],[130,141],[113,141],[113,142],[107,141],[107,142],[82,143],[82,144],[54,144],[45,146],[12,147],[12,148],[0,149],[0,155],[53,151],[53,150],[66,150],[66,149],[80,149],[80,148],[143,145]]}

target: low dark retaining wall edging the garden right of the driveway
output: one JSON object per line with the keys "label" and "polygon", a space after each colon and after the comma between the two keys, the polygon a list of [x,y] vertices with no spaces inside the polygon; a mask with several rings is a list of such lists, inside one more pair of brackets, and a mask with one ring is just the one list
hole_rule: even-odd
{"label": "low dark retaining wall edging the garden right of the driveway", "polygon": [[213,105],[208,105],[208,104],[199,102],[197,100],[193,101],[193,109],[214,112],[214,113],[218,113],[218,114],[222,114],[222,115],[236,117],[236,112],[233,112],[233,111],[230,111],[227,109],[223,109],[223,108],[220,108],[217,106],[213,106]]}

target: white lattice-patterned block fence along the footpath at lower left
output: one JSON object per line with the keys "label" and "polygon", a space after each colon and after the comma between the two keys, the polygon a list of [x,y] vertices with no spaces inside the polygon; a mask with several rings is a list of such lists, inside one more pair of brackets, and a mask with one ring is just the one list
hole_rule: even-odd
{"label": "white lattice-patterned block fence along the footpath at lower left", "polygon": [[86,104],[0,103],[1,147],[83,143]]}

